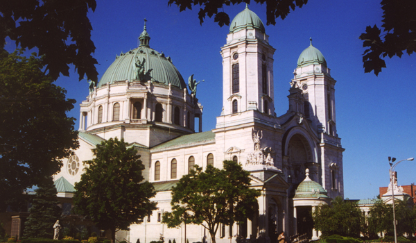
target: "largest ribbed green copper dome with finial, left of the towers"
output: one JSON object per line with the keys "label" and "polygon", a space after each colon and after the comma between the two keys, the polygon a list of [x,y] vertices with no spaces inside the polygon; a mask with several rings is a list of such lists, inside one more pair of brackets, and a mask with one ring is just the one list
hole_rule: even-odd
{"label": "largest ribbed green copper dome with finial, left of the towers", "polygon": [[[164,53],[159,53],[149,47],[150,36],[146,31],[146,19],[144,31],[139,37],[140,45],[128,53],[121,53],[116,56],[116,60],[105,71],[97,87],[116,81],[134,81],[143,79],[144,81],[155,81],[155,83],[171,84],[183,90],[187,87],[184,78],[173,65],[171,58],[166,58]],[[142,77],[138,78],[139,68],[143,72]]]}

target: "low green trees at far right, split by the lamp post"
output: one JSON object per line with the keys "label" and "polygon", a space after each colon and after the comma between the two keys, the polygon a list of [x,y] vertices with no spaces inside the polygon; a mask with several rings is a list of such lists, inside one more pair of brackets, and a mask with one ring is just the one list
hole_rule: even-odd
{"label": "low green trees at far right, split by the lamp post", "polygon": [[[412,234],[416,231],[416,210],[409,206],[407,201],[395,200],[395,212],[397,221],[397,235]],[[384,232],[385,235],[394,236],[393,207],[385,204],[383,200],[377,200],[370,208],[367,217],[368,231],[371,235]]]}

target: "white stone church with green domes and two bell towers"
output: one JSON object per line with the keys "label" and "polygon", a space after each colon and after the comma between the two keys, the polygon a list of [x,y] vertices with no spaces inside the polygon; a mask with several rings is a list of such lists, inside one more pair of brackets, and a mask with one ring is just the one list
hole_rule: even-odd
{"label": "white stone church with green domes and two bell towers", "polygon": [[[190,78],[187,85],[171,58],[151,48],[145,22],[139,47],[117,56],[101,81],[90,86],[80,104],[80,148],[64,161],[55,181],[74,185],[96,144],[123,138],[141,155],[158,203],[153,215],[130,227],[126,239],[148,243],[162,234],[166,242],[184,243],[184,226],[161,223],[163,212],[171,210],[171,188],[194,165],[222,168],[223,160],[234,160],[250,171],[252,187],[261,190],[258,211],[245,224],[220,227],[217,242],[275,242],[279,231],[286,237],[318,237],[310,212],[343,197],[344,149],[336,129],[336,81],[312,42],[299,52],[288,81],[288,111],[277,115],[275,49],[254,12],[246,7],[236,15],[221,47],[223,110],[216,128],[202,132],[198,83]],[[61,189],[58,196],[71,197],[71,192]],[[202,226],[186,227],[189,242],[210,242]]]}

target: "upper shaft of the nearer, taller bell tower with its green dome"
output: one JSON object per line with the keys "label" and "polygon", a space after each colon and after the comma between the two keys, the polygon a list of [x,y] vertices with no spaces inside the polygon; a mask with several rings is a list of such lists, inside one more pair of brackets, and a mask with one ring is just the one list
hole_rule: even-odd
{"label": "upper shaft of the nearer, taller bell tower with its green dome", "polygon": [[229,27],[223,56],[223,112],[258,110],[275,115],[273,54],[261,19],[248,6]]}

